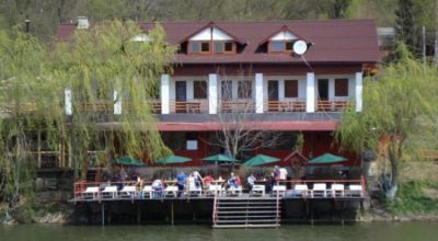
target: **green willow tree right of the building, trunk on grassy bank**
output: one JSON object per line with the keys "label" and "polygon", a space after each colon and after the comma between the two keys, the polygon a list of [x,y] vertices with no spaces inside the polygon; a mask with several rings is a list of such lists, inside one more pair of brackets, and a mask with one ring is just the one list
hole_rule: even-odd
{"label": "green willow tree right of the building, trunk on grassy bank", "polygon": [[389,165],[389,199],[396,194],[400,163],[420,149],[418,138],[437,144],[429,130],[436,123],[438,71],[414,59],[404,45],[397,54],[396,62],[366,79],[362,112],[346,111],[335,133],[344,148],[382,153],[380,161]]}

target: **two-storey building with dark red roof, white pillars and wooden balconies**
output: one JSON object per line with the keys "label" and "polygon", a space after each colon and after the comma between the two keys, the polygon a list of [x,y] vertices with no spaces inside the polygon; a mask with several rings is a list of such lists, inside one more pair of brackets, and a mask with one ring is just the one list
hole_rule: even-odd
{"label": "two-storey building with dark red roof, white pillars and wooden balconies", "polygon": [[[58,38],[66,39],[84,25],[88,22],[61,24]],[[139,25],[147,38],[153,23]],[[276,133],[281,139],[270,147],[247,148],[240,159],[255,153],[285,159],[302,133],[304,157],[331,152],[348,157],[350,165],[360,164],[357,154],[339,152],[332,133],[343,108],[362,108],[362,78],[376,70],[379,60],[373,21],[161,25],[178,53],[173,73],[161,76],[153,111],[166,145],[176,154],[193,159],[185,165],[199,165],[201,158],[226,152],[212,144],[218,142],[226,116],[235,112],[246,113],[241,118],[244,128]],[[293,53],[297,41],[308,43],[302,56]]]}

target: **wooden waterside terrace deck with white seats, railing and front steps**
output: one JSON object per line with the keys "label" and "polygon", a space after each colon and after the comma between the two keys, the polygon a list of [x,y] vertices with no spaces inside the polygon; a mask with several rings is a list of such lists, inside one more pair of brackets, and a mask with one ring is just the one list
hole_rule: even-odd
{"label": "wooden waterside terrace deck with white seats, railing and front steps", "polygon": [[[226,190],[220,184],[178,193],[175,182],[164,182],[161,191],[150,183],[108,184],[77,182],[71,203],[92,210],[101,225],[120,216],[130,221],[164,220],[168,223],[209,221],[214,228],[278,227],[286,221],[339,221],[347,209],[358,210],[368,199],[365,180],[292,180],[281,181],[270,193],[256,184],[252,192]],[[323,214],[323,215],[322,215]],[[95,222],[95,221],[94,221]]]}

